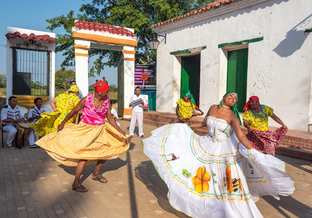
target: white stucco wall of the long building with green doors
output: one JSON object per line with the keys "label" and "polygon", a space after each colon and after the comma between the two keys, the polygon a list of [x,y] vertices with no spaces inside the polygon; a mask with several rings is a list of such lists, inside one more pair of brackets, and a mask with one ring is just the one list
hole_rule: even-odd
{"label": "white stucco wall of the long building with green doors", "polygon": [[[181,57],[170,52],[207,46],[201,51],[200,78],[200,108],[207,113],[226,92],[227,49],[218,44],[264,37],[248,44],[247,98],[258,96],[288,128],[307,131],[312,34],[304,30],[310,28],[310,2],[296,0],[242,0],[154,28],[167,34],[157,50],[156,110],[174,113],[180,95]],[[269,125],[280,126],[272,119]]]}

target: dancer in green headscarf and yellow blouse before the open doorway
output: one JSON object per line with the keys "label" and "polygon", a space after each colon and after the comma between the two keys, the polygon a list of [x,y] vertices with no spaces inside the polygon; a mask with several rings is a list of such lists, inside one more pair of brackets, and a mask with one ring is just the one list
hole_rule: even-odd
{"label": "dancer in green headscarf and yellow blouse before the open doorway", "polygon": [[[194,110],[200,111],[200,113]],[[180,98],[177,102],[176,114],[178,116],[178,123],[188,123],[188,125],[191,125],[193,123],[192,116],[202,115],[203,113],[204,112],[202,112],[199,107],[195,105],[195,101],[190,90],[184,93],[184,99]],[[197,133],[195,128],[192,128],[192,130]]]}

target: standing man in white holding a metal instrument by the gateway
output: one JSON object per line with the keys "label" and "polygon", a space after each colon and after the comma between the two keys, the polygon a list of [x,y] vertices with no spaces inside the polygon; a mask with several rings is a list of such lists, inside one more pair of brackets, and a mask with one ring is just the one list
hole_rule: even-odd
{"label": "standing man in white holding a metal instrument by the gateway", "polygon": [[[135,103],[134,105],[131,104],[131,102],[134,102],[135,100],[138,100],[140,98],[142,98],[141,101]],[[138,86],[135,87],[135,95],[130,98],[129,102],[129,107],[132,107],[129,135],[133,136],[135,123],[138,122],[139,138],[145,139],[143,133],[143,108],[146,106],[146,99],[143,95],[141,95],[141,88]]]}

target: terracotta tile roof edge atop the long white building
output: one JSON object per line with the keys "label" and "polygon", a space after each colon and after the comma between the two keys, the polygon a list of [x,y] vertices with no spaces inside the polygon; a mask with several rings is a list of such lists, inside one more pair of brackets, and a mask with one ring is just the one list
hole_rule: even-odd
{"label": "terracotta tile roof edge atop the long white building", "polygon": [[164,24],[167,24],[167,23],[171,23],[172,21],[180,20],[180,19],[182,19],[184,17],[189,17],[189,16],[192,16],[194,14],[198,14],[198,13],[207,11],[209,9],[219,7],[221,5],[230,4],[233,1],[236,1],[236,0],[217,0],[217,1],[211,2],[211,3],[205,5],[205,6],[201,7],[201,8],[198,8],[195,11],[192,11],[192,12],[189,12],[187,14],[184,14],[182,16],[178,16],[178,17],[175,17],[173,19],[169,19],[169,20],[166,20],[166,21],[163,21],[163,22],[160,22],[160,23],[156,23],[156,24],[152,25],[151,28],[153,29],[156,26],[161,26],[161,25],[164,25]]}

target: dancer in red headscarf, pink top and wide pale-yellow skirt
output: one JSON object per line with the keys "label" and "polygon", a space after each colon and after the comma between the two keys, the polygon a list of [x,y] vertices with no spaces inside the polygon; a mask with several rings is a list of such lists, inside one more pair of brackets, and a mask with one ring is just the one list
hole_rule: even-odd
{"label": "dancer in red headscarf, pink top and wide pale-yellow skirt", "polygon": [[[116,124],[110,112],[109,87],[103,81],[95,84],[95,93],[82,98],[53,132],[36,142],[56,161],[66,166],[77,166],[72,189],[87,192],[80,183],[86,164],[97,160],[92,179],[107,182],[100,169],[107,159],[115,159],[129,149],[131,136],[126,135]],[[78,111],[82,110],[78,125],[65,125]],[[109,123],[105,123],[105,116]],[[64,126],[65,125],[65,126]]]}

